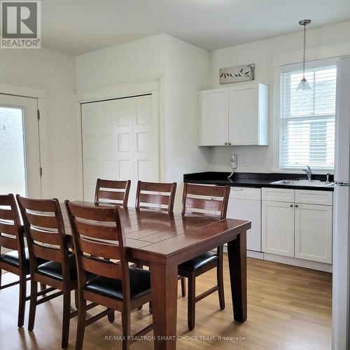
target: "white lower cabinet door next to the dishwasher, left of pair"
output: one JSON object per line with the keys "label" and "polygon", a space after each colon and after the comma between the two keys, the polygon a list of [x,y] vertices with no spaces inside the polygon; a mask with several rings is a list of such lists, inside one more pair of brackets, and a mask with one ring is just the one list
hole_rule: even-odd
{"label": "white lower cabinet door next to the dishwasher, left of pair", "polygon": [[294,204],[262,201],[262,251],[294,257]]}

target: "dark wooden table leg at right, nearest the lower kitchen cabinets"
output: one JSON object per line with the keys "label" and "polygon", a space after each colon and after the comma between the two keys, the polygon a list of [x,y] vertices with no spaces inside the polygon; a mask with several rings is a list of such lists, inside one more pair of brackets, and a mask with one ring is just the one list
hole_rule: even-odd
{"label": "dark wooden table leg at right, nearest the lower kitchen cabinets", "polygon": [[246,321],[246,231],[237,239],[228,242],[228,263],[233,304],[236,321]]}

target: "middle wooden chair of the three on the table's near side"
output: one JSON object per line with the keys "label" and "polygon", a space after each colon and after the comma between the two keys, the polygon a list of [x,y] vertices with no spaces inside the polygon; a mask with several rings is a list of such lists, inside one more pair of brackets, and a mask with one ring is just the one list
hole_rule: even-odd
{"label": "middle wooden chair of the three on the table's near side", "polygon": [[[62,348],[65,349],[68,346],[70,319],[78,312],[70,311],[71,290],[77,287],[76,262],[67,245],[62,211],[57,199],[16,197],[25,225],[31,267],[28,330],[34,329],[36,306],[63,294]],[[48,261],[39,265],[38,259]],[[50,288],[38,293],[38,283]],[[48,295],[51,292],[55,293]],[[45,296],[38,299],[43,294]]]}

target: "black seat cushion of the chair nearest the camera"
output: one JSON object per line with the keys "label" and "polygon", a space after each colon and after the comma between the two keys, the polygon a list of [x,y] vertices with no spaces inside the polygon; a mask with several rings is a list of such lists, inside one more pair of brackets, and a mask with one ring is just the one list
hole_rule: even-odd
{"label": "black seat cushion of the chair nearest the camera", "polygon": [[[135,299],[151,292],[151,273],[146,269],[129,268],[130,297]],[[123,286],[119,279],[97,276],[86,283],[86,290],[113,299],[123,300]]]}

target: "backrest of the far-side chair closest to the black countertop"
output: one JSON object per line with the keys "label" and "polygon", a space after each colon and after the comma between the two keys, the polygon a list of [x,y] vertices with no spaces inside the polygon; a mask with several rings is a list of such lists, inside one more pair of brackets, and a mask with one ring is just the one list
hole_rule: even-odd
{"label": "backrest of the far-side chair closest to the black countertop", "polygon": [[226,218],[229,196],[230,186],[202,186],[185,183],[182,214],[214,214]]}

